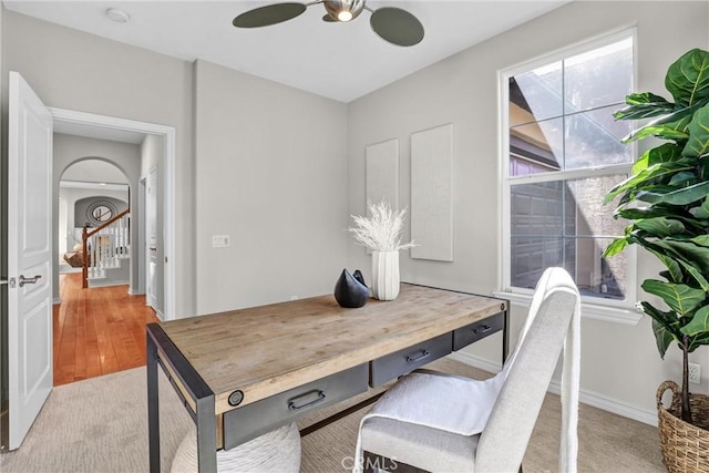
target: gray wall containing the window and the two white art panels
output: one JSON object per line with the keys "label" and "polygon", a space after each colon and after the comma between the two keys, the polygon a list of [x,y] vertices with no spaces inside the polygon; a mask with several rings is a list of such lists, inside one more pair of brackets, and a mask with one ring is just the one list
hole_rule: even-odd
{"label": "gray wall containing the window and the two white art panels", "polygon": [[[400,140],[400,204],[410,203],[410,135],[454,124],[454,261],[413,260],[401,255],[403,280],[490,294],[501,289],[499,71],[577,42],[637,25],[638,88],[664,90],[667,66],[685,51],[708,47],[707,2],[573,2],[467,49],[349,104],[350,213],[364,212],[364,146]],[[553,32],[553,34],[552,34]],[[350,244],[350,265],[369,269],[369,257]],[[657,274],[640,258],[638,282]],[[366,273],[367,275],[368,273]],[[638,289],[639,297],[646,297]],[[516,333],[526,308],[513,307]],[[637,326],[582,322],[582,389],[596,404],[608,401],[646,420],[656,418],[655,392],[681,372],[679,350],[661,361],[650,321]],[[516,340],[513,336],[512,340]],[[469,350],[484,363],[500,361],[500,338]],[[693,359],[709,370],[707,349]],[[693,387],[692,387],[692,390]],[[707,391],[707,378],[698,389]]]}

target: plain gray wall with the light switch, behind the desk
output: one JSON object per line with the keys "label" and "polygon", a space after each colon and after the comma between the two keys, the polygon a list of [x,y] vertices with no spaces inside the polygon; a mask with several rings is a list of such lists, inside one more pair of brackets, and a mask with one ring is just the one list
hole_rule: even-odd
{"label": "plain gray wall with the light switch, behind the desk", "polygon": [[347,106],[204,61],[195,103],[197,312],[331,292],[347,263]]}

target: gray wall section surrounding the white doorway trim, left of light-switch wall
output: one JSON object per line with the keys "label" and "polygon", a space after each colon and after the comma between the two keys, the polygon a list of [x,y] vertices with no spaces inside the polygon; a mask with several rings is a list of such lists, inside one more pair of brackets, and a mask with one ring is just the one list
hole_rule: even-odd
{"label": "gray wall section surrounding the white doorway trim, left of light-switch wall", "polygon": [[192,64],[8,10],[3,16],[2,76],[20,72],[45,105],[175,127],[175,312],[194,315]]}

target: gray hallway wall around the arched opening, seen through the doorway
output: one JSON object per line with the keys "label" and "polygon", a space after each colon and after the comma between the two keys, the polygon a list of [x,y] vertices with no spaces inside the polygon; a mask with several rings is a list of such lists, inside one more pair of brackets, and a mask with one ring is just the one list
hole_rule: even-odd
{"label": "gray hallway wall around the arched opening, seen through the doorway", "polygon": [[[140,147],[137,145],[54,133],[53,157],[54,164],[52,169],[52,182],[54,183],[54,188],[52,189],[52,235],[59,234],[59,182],[61,181],[64,171],[72,164],[86,158],[105,161],[115,165],[123,172],[131,189],[137,189],[141,172],[141,155]],[[132,209],[137,209],[136,192],[131,192],[130,205]],[[72,212],[72,209],[69,212]],[[138,214],[135,216],[140,216],[140,210],[137,212]],[[131,240],[137,241],[137,228],[135,225],[131,227]],[[59,244],[54,245],[53,255],[54,261],[58,261],[60,257]],[[137,270],[138,265],[136,264],[135,258],[131,258],[131,287],[133,281],[137,280]],[[53,284],[53,297],[54,300],[59,300],[59,267],[56,265],[54,265]]]}

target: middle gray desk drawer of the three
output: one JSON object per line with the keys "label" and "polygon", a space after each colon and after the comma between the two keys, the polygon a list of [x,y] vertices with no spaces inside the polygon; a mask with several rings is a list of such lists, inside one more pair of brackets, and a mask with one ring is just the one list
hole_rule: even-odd
{"label": "middle gray desk drawer of the three", "polygon": [[383,384],[451,352],[451,333],[370,361],[369,385]]}

